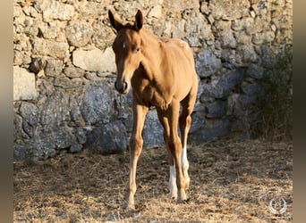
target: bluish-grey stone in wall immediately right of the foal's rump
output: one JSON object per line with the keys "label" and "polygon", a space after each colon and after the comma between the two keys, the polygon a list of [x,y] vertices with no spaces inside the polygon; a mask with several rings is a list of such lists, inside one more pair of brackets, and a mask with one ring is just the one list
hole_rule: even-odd
{"label": "bluish-grey stone in wall immediately right of the foal's rump", "polygon": [[203,50],[198,54],[196,70],[200,78],[209,77],[222,68],[222,62],[211,51]]}

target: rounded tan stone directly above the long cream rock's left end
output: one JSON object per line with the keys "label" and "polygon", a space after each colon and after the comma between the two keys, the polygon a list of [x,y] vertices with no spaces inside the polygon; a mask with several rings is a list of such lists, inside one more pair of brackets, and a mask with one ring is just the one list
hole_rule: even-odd
{"label": "rounded tan stone directly above the long cream rock's left end", "polygon": [[66,27],[66,37],[70,45],[86,45],[92,34],[92,26],[87,21],[70,21]]}

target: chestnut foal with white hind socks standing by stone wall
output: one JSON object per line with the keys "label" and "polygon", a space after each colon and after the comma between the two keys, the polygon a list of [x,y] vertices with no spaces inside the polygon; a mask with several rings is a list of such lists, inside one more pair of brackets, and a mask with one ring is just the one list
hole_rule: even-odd
{"label": "chestnut foal with white hind socks standing by stone wall", "polygon": [[[178,202],[185,201],[185,189],[190,182],[187,135],[198,90],[191,48],[180,39],[158,38],[143,28],[140,10],[135,15],[135,22],[125,25],[113,12],[108,11],[108,16],[117,32],[113,43],[117,68],[115,89],[126,94],[132,87],[133,127],[127,208],[134,209],[136,167],[143,143],[141,132],[150,106],[156,107],[164,128],[170,164],[170,196]],[[182,112],[179,117],[180,103]],[[178,124],[182,142],[177,132]]]}

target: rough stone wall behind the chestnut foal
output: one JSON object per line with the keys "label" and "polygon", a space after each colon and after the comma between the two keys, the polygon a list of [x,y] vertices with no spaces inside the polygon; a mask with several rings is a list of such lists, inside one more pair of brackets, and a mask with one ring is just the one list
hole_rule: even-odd
{"label": "rough stone wall behind the chestnut foal", "polygon": [[[199,76],[189,141],[245,131],[245,108],[265,94],[260,80],[292,45],[292,0],[14,0],[14,159],[47,159],[84,147],[127,149],[132,95],[115,92],[115,33],[108,9],[137,9],[157,36],[191,45]],[[144,147],[163,145],[149,111]]]}

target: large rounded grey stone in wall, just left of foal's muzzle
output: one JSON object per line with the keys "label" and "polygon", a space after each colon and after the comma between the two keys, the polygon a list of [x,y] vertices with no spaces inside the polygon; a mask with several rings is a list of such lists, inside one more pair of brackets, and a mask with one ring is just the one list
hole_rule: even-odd
{"label": "large rounded grey stone in wall, just left of foal's muzzle", "polygon": [[114,112],[113,89],[105,81],[97,81],[85,89],[81,99],[81,114],[86,123],[106,122]]}

